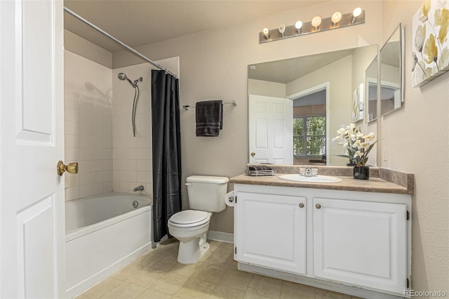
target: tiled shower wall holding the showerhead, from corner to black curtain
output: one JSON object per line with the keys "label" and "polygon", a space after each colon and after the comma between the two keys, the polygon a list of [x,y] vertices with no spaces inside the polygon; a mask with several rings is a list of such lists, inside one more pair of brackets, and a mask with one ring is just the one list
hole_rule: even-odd
{"label": "tiled shower wall holding the showerhead, from corner to black curtain", "polygon": [[[125,73],[138,83],[140,95],[137,102],[133,137],[131,114],[133,111],[134,88],[128,81],[118,79],[119,73]],[[151,114],[151,69],[147,63],[121,67],[112,71],[114,107],[112,109],[113,125],[113,159],[114,192],[133,192],[137,186],[144,186],[140,194],[152,194],[152,114]]]}

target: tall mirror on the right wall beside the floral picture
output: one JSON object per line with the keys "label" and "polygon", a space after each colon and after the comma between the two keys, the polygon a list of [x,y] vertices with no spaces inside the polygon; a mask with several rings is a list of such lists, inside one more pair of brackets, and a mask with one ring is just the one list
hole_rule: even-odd
{"label": "tall mirror on the right wall beside the floral picture", "polygon": [[401,24],[380,49],[380,115],[400,109],[404,100],[404,29]]}

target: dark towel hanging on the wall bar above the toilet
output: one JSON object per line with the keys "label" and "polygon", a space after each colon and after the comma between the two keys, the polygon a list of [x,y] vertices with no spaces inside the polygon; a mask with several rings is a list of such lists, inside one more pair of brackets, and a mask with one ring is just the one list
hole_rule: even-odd
{"label": "dark towel hanging on the wall bar above the toilet", "polygon": [[223,128],[222,100],[196,102],[196,135],[218,136]]}

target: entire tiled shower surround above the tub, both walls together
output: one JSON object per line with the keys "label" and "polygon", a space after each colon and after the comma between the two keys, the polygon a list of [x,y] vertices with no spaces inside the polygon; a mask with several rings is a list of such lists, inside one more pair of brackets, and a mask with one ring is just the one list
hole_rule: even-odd
{"label": "entire tiled shower surround above the tub, both walls together", "polygon": [[[159,60],[179,72],[179,58]],[[79,162],[78,175],[65,175],[66,201],[107,192],[153,193],[151,67],[144,63],[109,69],[65,51],[65,162]],[[131,114],[138,83],[136,137]],[[114,97],[112,96],[114,95]]]}

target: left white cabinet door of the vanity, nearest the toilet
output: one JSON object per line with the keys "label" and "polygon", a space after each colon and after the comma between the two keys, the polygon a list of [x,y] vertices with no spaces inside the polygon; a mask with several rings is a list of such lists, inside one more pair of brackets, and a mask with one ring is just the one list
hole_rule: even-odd
{"label": "left white cabinet door of the vanity, nearest the toilet", "polygon": [[305,274],[305,204],[304,197],[239,192],[236,260]]}

